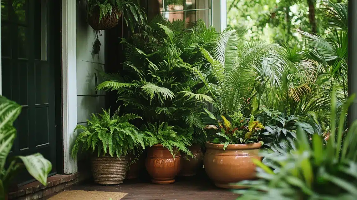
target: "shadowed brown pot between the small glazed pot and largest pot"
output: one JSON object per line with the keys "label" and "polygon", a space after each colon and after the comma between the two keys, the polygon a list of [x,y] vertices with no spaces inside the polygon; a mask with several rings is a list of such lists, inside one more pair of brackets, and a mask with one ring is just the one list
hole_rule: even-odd
{"label": "shadowed brown pot between the small glazed pot and largest pot", "polygon": [[197,173],[198,168],[202,168],[203,166],[203,153],[201,150],[201,146],[198,144],[193,144],[191,147],[188,147],[193,154],[193,158],[191,156],[187,156],[185,153],[182,153],[181,158],[181,172],[179,176],[194,176]]}

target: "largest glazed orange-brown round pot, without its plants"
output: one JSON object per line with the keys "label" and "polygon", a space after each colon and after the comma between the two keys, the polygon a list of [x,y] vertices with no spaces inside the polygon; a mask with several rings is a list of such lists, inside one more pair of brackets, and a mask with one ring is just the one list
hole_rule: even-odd
{"label": "largest glazed orange-brown round pot, without its plants", "polygon": [[256,179],[252,158],[262,159],[258,155],[261,143],[229,144],[226,150],[223,150],[223,146],[206,143],[205,170],[215,185],[219,188],[238,189],[240,187],[230,183]]}

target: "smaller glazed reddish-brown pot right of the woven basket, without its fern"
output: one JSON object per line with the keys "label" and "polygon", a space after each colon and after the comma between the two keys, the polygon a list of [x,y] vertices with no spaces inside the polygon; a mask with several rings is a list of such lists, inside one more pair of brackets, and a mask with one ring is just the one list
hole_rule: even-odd
{"label": "smaller glazed reddish-brown pot right of the woven basket, without its fern", "polygon": [[157,144],[147,149],[145,166],[152,183],[175,183],[175,176],[181,169],[181,154],[177,151],[173,158],[169,149]]}

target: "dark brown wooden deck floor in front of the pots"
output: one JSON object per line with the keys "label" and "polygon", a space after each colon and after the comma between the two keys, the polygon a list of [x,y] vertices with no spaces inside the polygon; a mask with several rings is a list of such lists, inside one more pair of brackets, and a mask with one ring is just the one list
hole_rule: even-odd
{"label": "dark brown wooden deck floor in front of the pots", "polygon": [[88,182],[70,189],[128,193],[122,200],[235,200],[238,197],[230,190],[217,188],[205,174],[178,178],[176,183],[167,185],[153,184],[149,180],[127,180],[112,186]]}

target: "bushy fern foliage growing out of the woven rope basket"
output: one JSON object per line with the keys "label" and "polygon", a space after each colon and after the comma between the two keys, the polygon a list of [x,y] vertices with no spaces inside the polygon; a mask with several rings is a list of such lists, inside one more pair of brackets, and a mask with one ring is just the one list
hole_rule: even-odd
{"label": "bushy fern foliage growing out of the woven rope basket", "polygon": [[103,114],[92,114],[91,120],[87,120],[88,128],[77,125],[76,130],[81,132],[72,149],[72,157],[76,157],[82,146],[82,150],[97,150],[98,157],[109,153],[111,157],[135,153],[138,147],[145,149],[144,135],[128,120],[140,118],[135,114],[119,116],[119,109],[110,117],[110,109]]}

